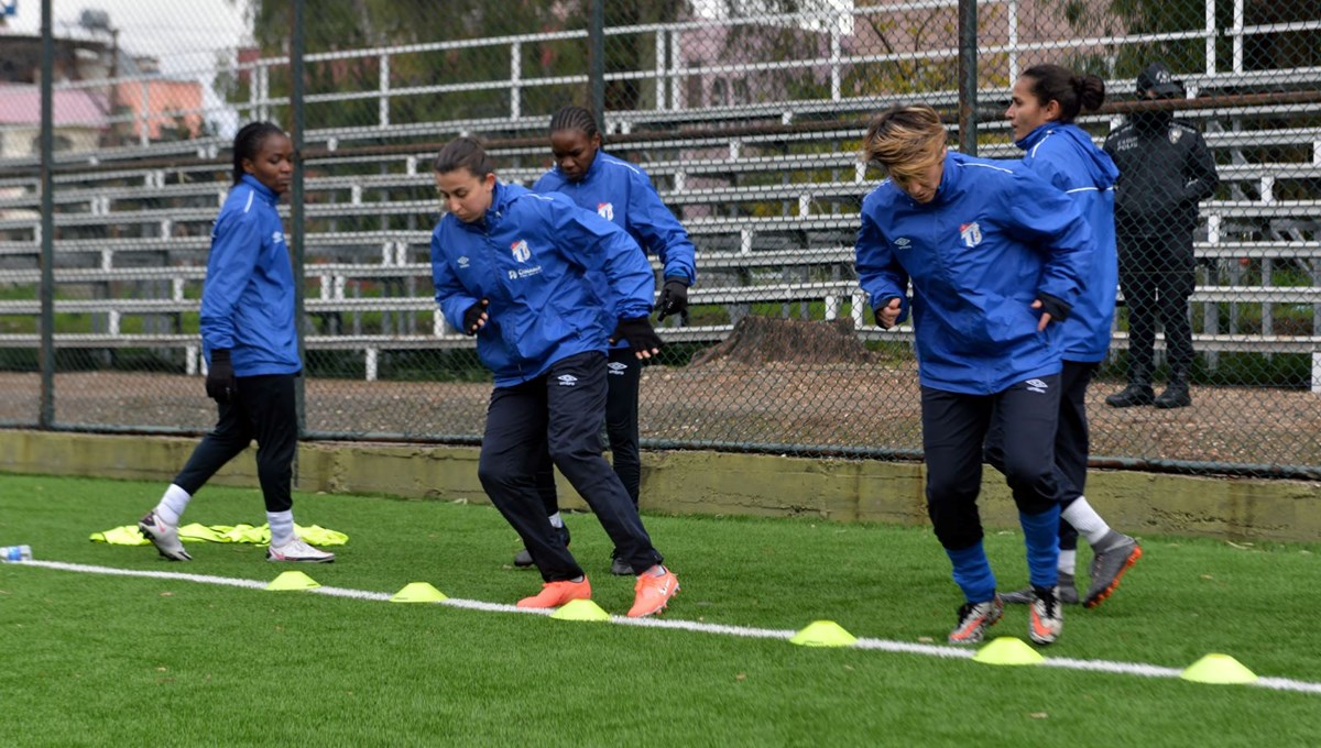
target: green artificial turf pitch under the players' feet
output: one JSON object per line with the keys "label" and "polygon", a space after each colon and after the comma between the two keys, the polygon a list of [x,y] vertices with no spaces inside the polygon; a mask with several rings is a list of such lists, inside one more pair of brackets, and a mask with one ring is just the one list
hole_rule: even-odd
{"label": "green artificial turf pitch under the players' feet", "polygon": [[[162,485],[0,476],[0,545],[37,559],[273,579],[263,549],[92,544]],[[513,603],[540,583],[490,507],[296,495],[300,524],[349,534],[325,586]],[[1102,508],[1103,509],[1103,508]],[[264,521],[255,489],[209,487],[185,521]],[[960,596],[926,529],[645,517],[682,591],[663,620],[943,644]],[[594,600],[631,603],[610,542],[572,514]],[[1321,682],[1318,545],[1143,537],[1144,558],[1096,609],[1066,608],[1050,658],[1185,668],[1226,653],[1263,677]],[[1003,588],[1026,578],[1021,536],[987,549]],[[1079,571],[1086,567],[1081,553]],[[1026,640],[1011,608],[995,636]],[[569,623],[0,565],[0,743],[5,745],[1317,745],[1321,693],[856,648]]]}

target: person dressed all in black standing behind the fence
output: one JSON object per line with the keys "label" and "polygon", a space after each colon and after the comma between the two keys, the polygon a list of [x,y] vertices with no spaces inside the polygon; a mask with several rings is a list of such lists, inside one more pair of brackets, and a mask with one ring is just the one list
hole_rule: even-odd
{"label": "person dressed all in black standing behind the fence", "polygon": [[[1137,77],[1143,99],[1173,99],[1184,92],[1164,65]],[[1193,231],[1197,203],[1215,193],[1215,161],[1197,128],[1177,121],[1169,109],[1133,112],[1110,133],[1106,153],[1119,166],[1115,194],[1115,239],[1119,286],[1128,305],[1128,387],[1106,398],[1112,408],[1155,405],[1185,408],[1193,398],[1188,376],[1193,365],[1193,330],[1188,299],[1193,294]],[[1165,327],[1169,385],[1152,390],[1156,321]]]}

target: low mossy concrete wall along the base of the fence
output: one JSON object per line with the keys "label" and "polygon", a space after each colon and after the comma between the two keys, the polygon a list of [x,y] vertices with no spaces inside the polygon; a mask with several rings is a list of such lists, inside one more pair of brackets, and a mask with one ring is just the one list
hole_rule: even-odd
{"label": "low mossy concrete wall along the base of the fence", "polygon": [[[196,439],[0,430],[0,472],[168,482]],[[486,503],[476,447],[308,442],[299,491]],[[642,508],[682,514],[926,524],[923,466],[700,451],[645,452]],[[215,479],[256,485],[251,450]],[[565,507],[585,507],[561,480]],[[1000,475],[987,468],[983,520],[1017,526]],[[1321,483],[1092,471],[1089,497],[1125,533],[1321,541]]]}

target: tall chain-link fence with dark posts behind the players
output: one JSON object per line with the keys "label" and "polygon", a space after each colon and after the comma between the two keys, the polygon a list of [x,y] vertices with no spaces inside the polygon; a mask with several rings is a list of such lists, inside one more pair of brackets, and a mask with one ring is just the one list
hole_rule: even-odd
{"label": "tall chain-link fence with dark posts behind the players", "polygon": [[857,160],[865,121],[927,103],[963,149],[1020,158],[1015,83],[1054,63],[1104,82],[1077,124],[1122,169],[1094,459],[1321,475],[1316,3],[304,3],[57,0],[42,53],[40,4],[20,0],[0,28],[0,423],[213,423],[209,231],[236,127],[268,119],[301,156],[281,210],[305,433],[477,439],[490,377],[432,298],[429,164],[476,135],[531,185],[550,115],[583,104],[697,248],[691,314],[643,373],[645,446],[917,458],[911,328],[876,326],[852,261],[881,178]]}

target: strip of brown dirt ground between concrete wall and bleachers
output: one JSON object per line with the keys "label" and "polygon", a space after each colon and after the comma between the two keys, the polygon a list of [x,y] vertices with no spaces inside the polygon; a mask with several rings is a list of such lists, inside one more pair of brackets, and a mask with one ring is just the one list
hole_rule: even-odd
{"label": "strip of brown dirt ground between concrete wall and bleachers", "polygon": [[[1119,383],[1089,393],[1092,455],[1321,466],[1321,396],[1272,388],[1194,387],[1176,410],[1103,404]],[[489,384],[309,379],[308,429],[347,437],[416,439],[481,434]],[[37,423],[40,377],[0,372],[0,425]],[[55,375],[62,426],[185,429],[214,423],[201,377],[159,373]],[[642,435],[664,446],[775,445],[785,454],[855,449],[917,451],[921,421],[915,364],[717,360],[649,367],[642,377]]]}

